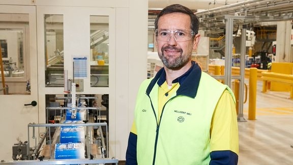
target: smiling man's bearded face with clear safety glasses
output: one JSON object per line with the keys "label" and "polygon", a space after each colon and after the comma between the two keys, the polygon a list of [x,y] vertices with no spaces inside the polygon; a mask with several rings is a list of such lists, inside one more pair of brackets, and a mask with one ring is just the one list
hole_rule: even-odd
{"label": "smiling man's bearded face with clear safety glasses", "polygon": [[180,36],[175,34],[177,30],[190,32],[190,26],[190,17],[187,14],[170,13],[159,18],[158,32],[171,32],[168,41],[162,41],[158,36],[156,38],[159,57],[168,69],[179,70],[191,61],[192,50],[196,49],[198,35],[194,38],[189,37],[188,40],[178,41]]}

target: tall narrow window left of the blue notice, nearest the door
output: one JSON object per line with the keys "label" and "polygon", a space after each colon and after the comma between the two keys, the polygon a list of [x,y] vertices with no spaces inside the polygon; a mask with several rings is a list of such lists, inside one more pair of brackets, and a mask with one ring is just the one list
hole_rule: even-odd
{"label": "tall narrow window left of the blue notice, nearest the door", "polygon": [[63,15],[44,15],[46,87],[64,87]]}

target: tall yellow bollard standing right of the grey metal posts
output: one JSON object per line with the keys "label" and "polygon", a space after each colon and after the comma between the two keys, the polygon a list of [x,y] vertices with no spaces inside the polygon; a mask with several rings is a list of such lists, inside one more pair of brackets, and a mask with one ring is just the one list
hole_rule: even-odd
{"label": "tall yellow bollard standing right of the grey metal posts", "polygon": [[257,68],[250,68],[249,72],[248,120],[255,120]]}

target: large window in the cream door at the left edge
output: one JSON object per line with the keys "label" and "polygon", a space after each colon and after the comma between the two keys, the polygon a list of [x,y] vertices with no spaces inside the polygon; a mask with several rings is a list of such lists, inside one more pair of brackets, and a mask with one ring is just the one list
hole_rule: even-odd
{"label": "large window in the cream door at the left edge", "polygon": [[0,94],[30,94],[28,25],[28,14],[0,13]]}

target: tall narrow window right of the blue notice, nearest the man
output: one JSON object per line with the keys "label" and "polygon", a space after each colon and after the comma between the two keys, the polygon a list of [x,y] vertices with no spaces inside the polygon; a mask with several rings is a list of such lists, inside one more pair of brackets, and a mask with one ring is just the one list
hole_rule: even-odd
{"label": "tall narrow window right of the blue notice, nearest the man", "polygon": [[91,16],[91,87],[109,87],[109,16]]}

